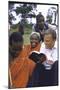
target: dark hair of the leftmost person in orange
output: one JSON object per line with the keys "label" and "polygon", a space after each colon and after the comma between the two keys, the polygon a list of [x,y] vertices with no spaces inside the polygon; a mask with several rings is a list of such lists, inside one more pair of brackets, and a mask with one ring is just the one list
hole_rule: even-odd
{"label": "dark hair of the leftmost person in orange", "polygon": [[12,45],[12,41],[14,42],[22,42],[23,41],[23,36],[21,35],[20,32],[13,32],[10,37],[9,37],[9,44]]}

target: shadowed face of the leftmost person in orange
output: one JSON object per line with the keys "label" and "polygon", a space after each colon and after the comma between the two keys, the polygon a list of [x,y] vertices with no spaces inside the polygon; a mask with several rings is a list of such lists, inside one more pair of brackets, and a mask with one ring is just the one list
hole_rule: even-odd
{"label": "shadowed face of the leftmost person in orange", "polygon": [[22,50],[23,42],[14,42],[12,41],[12,45],[10,47],[12,54],[16,57],[19,55],[20,51]]}

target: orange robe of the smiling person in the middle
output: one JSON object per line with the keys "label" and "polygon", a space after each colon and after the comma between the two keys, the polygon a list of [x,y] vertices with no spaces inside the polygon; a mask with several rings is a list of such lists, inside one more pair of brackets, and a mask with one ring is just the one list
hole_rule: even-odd
{"label": "orange robe of the smiling person in the middle", "polygon": [[[35,48],[32,48],[31,45],[26,45],[25,48],[26,48],[27,56],[29,57],[29,54],[32,51],[40,51],[40,47],[41,47],[40,43]],[[36,66],[36,63],[29,58],[28,58],[28,60],[29,60],[29,65],[30,65],[29,71],[30,71],[30,76],[31,76],[31,74]]]}

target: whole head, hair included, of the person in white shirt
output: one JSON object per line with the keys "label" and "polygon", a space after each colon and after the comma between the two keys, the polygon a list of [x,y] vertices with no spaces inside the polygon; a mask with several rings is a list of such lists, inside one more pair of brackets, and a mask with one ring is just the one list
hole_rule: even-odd
{"label": "whole head, hair included, of the person in white shirt", "polygon": [[44,43],[46,48],[52,49],[56,41],[56,32],[52,29],[48,29],[44,33]]}

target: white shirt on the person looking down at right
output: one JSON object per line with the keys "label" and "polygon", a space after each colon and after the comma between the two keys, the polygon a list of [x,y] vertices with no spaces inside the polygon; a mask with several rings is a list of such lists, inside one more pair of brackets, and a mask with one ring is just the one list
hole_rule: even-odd
{"label": "white shirt on the person looking down at right", "polygon": [[52,60],[55,62],[58,60],[58,52],[57,52],[57,44],[55,43],[54,47],[52,49],[47,49],[45,47],[45,44],[42,43],[40,48],[40,53],[44,53],[47,56],[47,60]]}

